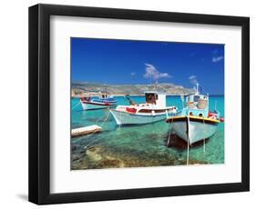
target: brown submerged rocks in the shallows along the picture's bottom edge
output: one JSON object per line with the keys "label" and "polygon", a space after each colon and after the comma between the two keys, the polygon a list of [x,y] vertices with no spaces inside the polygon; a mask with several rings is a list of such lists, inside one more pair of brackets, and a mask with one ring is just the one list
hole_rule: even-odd
{"label": "brown submerged rocks in the shallows along the picture's bottom edge", "polygon": [[[130,150],[120,152],[112,147],[93,145],[79,160],[73,161],[72,169],[99,169],[121,167],[148,167],[187,164],[186,158],[173,156],[168,152],[148,153]],[[189,164],[205,164],[203,161],[189,160]]]}

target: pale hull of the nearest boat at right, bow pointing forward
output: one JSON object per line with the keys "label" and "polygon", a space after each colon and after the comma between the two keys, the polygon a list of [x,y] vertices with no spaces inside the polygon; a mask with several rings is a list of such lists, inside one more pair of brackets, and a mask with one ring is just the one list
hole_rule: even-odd
{"label": "pale hull of the nearest boat at right, bow pointing forward", "polygon": [[181,139],[189,144],[199,142],[200,140],[210,138],[216,133],[219,122],[209,120],[193,121],[187,117],[179,121],[171,121],[169,119],[170,129],[174,134],[177,134]]}

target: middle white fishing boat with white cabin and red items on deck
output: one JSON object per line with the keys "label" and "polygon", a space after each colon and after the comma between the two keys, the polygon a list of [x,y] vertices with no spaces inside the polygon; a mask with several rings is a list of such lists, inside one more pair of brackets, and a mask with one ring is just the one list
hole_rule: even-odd
{"label": "middle white fishing boat with white cabin and red items on deck", "polygon": [[146,103],[135,104],[127,95],[129,105],[118,105],[110,109],[118,125],[149,124],[166,119],[167,114],[175,114],[176,106],[166,106],[166,95],[159,92],[145,92]]}

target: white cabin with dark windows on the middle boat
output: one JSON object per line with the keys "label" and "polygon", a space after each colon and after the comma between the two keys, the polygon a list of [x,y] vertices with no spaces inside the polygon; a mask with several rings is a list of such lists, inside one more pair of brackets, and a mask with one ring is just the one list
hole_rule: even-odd
{"label": "white cabin with dark windows on the middle boat", "polygon": [[166,95],[159,92],[145,92],[147,104],[155,104],[158,107],[166,107]]}

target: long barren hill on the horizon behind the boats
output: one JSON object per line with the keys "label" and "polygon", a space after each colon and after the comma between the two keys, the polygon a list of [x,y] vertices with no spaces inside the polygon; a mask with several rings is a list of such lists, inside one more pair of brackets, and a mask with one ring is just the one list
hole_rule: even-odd
{"label": "long barren hill on the horizon behind the boats", "polygon": [[143,95],[145,91],[159,91],[167,95],[186,95],[194,92],[192,88],[184,88],[182,85],[158,84],[158,85],[102,85],[87,82],[73,82],[72,95],[81,95],[87,92],[108,92],[110,95]]}

